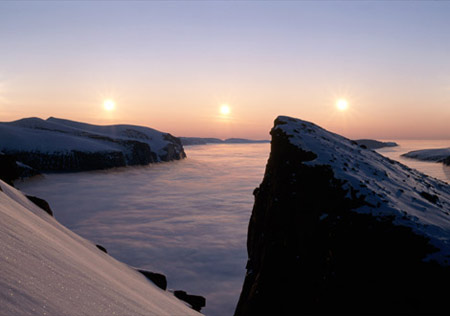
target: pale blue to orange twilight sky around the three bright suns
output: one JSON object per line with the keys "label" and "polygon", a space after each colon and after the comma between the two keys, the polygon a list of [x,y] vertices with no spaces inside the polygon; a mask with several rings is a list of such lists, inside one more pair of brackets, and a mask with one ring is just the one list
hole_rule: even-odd
{"label": "pale blue to orange twilight sky around the three bright suns", "polygon": [[289,115],[450,139],[449,16],[449,1],[1,1],[0,121],[269,139]]}

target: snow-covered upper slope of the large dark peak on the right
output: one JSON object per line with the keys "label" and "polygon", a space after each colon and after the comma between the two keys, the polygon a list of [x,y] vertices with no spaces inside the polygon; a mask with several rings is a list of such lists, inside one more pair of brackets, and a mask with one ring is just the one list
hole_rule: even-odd
{"label": "snow-covered upper slope of the large dark peak on the right", "polygon": [[[364,195],[373,206],[356,209],[376,216],[393,216],[394,223],[430,238],[439,251],[427,259],[450,264],[450,186],[428,177],[319,126],[280,116],[274,129],[317,157],[308,165],[329,165],[344,188]],[[329,149],[333,150],[329,150]],[[381,200],[382,204],[378,204]],[[435,200],[436,198],[436,200]]]}

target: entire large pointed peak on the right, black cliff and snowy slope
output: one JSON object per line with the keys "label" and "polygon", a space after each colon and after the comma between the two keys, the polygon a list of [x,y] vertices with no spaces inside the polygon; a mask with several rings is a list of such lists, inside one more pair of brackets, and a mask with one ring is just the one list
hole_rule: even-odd
{"label": "entire large pointed peak on the right, black cliff and snowy slope", "polygon": [[450,186],[309,122],[271,135],[236,315],[446,313]]}

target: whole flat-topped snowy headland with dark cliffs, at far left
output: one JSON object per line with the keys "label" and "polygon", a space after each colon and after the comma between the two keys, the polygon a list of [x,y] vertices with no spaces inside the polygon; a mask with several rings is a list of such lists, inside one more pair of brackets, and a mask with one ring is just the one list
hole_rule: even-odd
{"label": "whole flat-topped snowy headland with dark cliffs, at far left", "polygon": [[0,123],[0,151],[40,171],[106,169],[186,157],[178,138],[151,128],[56,118]]}

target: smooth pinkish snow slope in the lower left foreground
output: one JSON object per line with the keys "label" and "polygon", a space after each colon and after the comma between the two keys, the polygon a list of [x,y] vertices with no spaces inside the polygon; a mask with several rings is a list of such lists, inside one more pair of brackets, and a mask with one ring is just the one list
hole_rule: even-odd
{"label": "smooth pinkish snow slope in the lower left foreground", "polygon": [[1,315],[199,315],[0,180]]}

